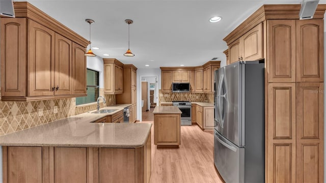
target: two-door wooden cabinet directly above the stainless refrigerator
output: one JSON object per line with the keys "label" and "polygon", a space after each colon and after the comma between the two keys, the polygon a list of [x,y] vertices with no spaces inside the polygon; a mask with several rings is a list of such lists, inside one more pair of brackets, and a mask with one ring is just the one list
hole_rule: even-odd
{"label": "two-door wooden cabinet directly above the stainless refrigerator", "polygon": [[228,56],[227,64],[232,64],[238,60],[252,61],[263,58],[262,23],[229,44]]}

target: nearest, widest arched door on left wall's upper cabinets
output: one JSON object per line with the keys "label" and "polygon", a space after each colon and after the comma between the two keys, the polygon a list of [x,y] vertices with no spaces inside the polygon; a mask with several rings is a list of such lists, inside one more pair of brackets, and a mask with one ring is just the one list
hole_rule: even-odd
{"label": "nearest, widest arched door on left wall's upper cabinets", "polygon": [[29,20],[28,96],[51,96],[55,83],[55,32]]}

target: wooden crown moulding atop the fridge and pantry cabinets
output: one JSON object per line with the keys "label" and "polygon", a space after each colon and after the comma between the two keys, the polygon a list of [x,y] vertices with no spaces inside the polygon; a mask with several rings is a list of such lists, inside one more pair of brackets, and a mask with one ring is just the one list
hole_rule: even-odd
{"label": "wooden crown moulding atop the fridge and pantry cabinets", "polygon": [[[264,20],[299,19],[300,9],[301,5],[263,5],[223,40],[229,45]],[[314,19],[323,19],[325,10],[326,5],[318,5]]]}

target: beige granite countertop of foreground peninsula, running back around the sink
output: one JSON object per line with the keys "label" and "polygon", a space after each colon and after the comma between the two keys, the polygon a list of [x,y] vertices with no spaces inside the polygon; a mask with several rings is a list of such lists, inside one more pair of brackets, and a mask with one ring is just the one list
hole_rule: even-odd
{"label": "beige granite countertop of foreground peninsula, running back around the sink", "polygon": [[[105,108],[122,108],[116,105]],[[144,146],[152,124],[90,123],[112,113],[82,113],[0,137],[5,146],[135,148]]]}

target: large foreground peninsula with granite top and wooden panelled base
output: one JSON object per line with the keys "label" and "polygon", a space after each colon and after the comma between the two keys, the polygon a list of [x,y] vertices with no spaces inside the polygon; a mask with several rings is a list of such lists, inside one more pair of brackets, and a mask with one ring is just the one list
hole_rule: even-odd
{"label": "large foreground peninsula with granite top and wooden panelled base", "polygon": [[83,113],[0,137],[3,182],[149,182],[151,124]]}

